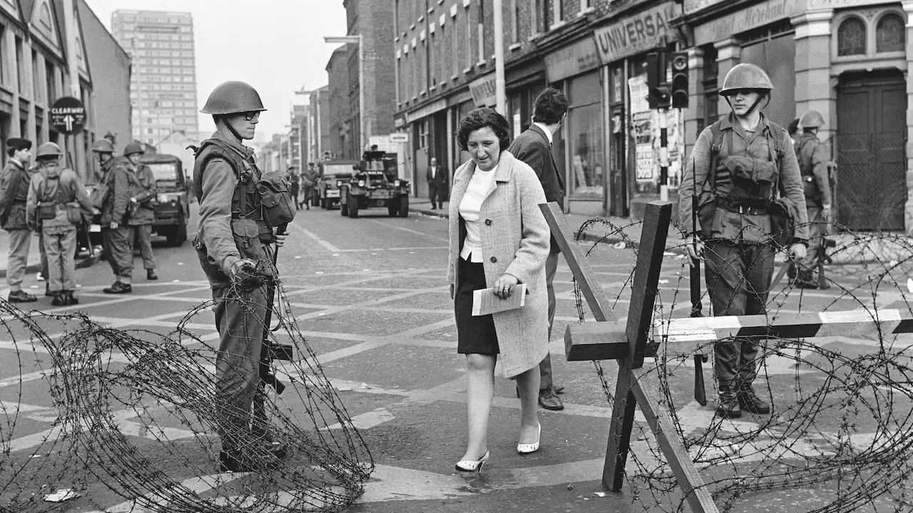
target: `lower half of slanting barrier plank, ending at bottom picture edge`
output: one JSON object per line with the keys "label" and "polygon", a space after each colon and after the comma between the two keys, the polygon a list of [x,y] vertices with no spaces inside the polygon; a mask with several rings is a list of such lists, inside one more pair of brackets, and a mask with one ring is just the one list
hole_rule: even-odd
{"label": "lower half of slanting barrier plank, ending at bottom picture edge", "polygon": [[640,404],[640,411],[646,418],[646,423],[650,424],[650,429],[659,442],[660,450],[666,456],[666,462],[672,468],[672,474],[676,476],[678,487],[681,487],[685,494],[691,511],[695,513],[715,513],[718,512],[713,497],[704,484],[704,480],[698,474],[688,454],[685,445],[682,445],[678,438],[678,432],[675,424],[660,404],[659,398],[656,397],[653,388],[649,384],[647,377],[649,370],[645,368],[635,369],[632,372],[634,383],[631,391]]}

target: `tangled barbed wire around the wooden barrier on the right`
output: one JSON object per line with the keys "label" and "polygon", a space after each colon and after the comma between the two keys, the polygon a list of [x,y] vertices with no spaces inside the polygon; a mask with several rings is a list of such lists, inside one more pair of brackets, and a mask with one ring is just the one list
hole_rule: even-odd
{"label": "tangled barbed wire around the wooden barrier on the right", "polygon": [[[587,246],[588,256],[611,250],[636,254],[637,243],[630,234],[639,225],[615,225],[595,217],[578,230],[576,244]],[[858,309],[873,320],[888,305],[913,311],[913,286],[908,285],[913,283],[910,240],[892,234],[857,234],[844,226],[835,228],[839,232],[834,236],[837,244],[825,260],[831,288],[824,309],[819,311]],[[645,367],[660,407],[673,420],[677,436],[720,510],[740,511],[752,494],[787,490],[811,490],[814,497],[807,504],[783,504],[783,510],[793,512],[837,513],[866,507],[873,511],[913,510],[913,335],[873,330],[864,340],[834,337],[824,343],[767,337],[759,343],[754,386],[761,399],[771,403],[771,414],[722,418],[714,414],[712,396],[719,384],[715,375],[712,380],[706,379],[706,406],[677,392],[682,388],[678,381],[682,375],[693,377],[694,367],[688,362],[696,354],[712,355],[714,344],[677,353],[667,351],[662,343],[662,327],[667,321],[688,317],[691,310],[686,250],[691,238],[681,228],[670,226],[670,234],[674,230],[679,242],[666,246],[664,263],[666,271],[674,267],[676,278],[660,282],[654,305],[657,328],[649,340],[661,349]],[[668,240],[676,238],[670,235]],[[614,244],[601,244],[605,242]],[[776,249],[784,253],[786,248]],[[629,297],[634,273],[632,267],[624,286],[610,298],[614,308],[623,306]],[[701,274],[703,282],[703,269]],[[817,279],[817,269],[812,270],[812,276]],[[768,319],[797,310],[812,311],[807,306],[809,294],[821,299],[821,294],[794,286],[792,280],[775,284],[768,298]],[[574,297],[578,320],[583,322],[587,320],[586,308],[576,281]],[[708,315],[706,287],[701,288],[701,302]],[[593,361],[593,365],[611,405],[615,372],[600,361]],[[779,373],[772,370],[773,365],[780,368]],[[791,369],[792,375],[783,374],[784,368]],[[705,365],[704,372],[714,373],[712,363]],[[688,510],[646,424],[635,424],[632,440],[624,484],[632,502],[643,510]]]}

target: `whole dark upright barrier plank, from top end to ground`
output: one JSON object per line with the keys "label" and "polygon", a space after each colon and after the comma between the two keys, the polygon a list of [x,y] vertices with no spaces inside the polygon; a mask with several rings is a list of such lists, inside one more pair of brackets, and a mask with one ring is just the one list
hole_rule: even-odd
{"label": "whole dark upright barrier plank, from top end to ground", "polygon": [[[609,426],[608,450],[605,452],[603,466],[603,485],[611,485],[613,491],[621,490],[624,482],[624,464],[631,444],[636,405],[631,394],[631,371],[644,365],[646,340],[653,327],[653,304],[659,286],[659,272],[663,267],[663,251],[666,249],[671,215],[672,204],[669,202],[651,202],[646,205],[625,329],[628,351],[624,360],[619,361],[612,424]],[[656,409],[654,405],[649,407]]]}

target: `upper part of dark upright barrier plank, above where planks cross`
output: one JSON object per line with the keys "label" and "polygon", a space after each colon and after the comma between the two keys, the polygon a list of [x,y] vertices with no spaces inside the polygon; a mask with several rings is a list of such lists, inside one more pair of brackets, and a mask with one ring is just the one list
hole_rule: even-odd
{"label": "upper part of dark upright barrier plank, above where planks cross", "polygon": [[644,365],[646,340],[653,328],[653,304],[659,287],[659,273],[663,270],[663,253],[671,220],[671,203],[656,201],[646,205],[626,330],[632,369]]}

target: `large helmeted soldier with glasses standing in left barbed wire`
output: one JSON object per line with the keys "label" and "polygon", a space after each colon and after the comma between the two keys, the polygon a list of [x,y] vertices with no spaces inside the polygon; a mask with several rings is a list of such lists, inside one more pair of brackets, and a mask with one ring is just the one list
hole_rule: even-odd
{"label": "large helmeted soldier with glasses standing in left barbed wire", "polygon": [[217,86],[201,110],[213,116],[216,131],[200,144],[194,162],[194,191],[200,203],[194,246],[213,290],[220,335],[215,394],[223,471],[273,466],[284,455],[266,426],[250,414],[265,393],[258,361],[270,253],[285,242],[285,236],[275,234],[264,220],[254,186],[262,173],[253,150],[243,144],[254,138],[264,110],[257,90],[248,84],[228,81]]}

